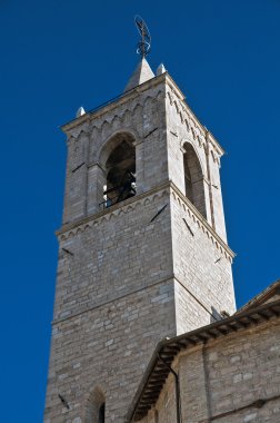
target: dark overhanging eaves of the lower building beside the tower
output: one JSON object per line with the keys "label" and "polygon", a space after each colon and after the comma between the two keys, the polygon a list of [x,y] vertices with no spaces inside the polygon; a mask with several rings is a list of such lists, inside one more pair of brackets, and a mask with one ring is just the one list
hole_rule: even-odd
{"label": "dark overhanging eaves of the lower building beside the tower", "polygon": [[[132,422],[132,419],[134,419],[134,421],[143,419],[148,411],[157,403],[163,384],[171,371],[170,366],[178,353],[198,344],[206,344],[208,341],[243,331],[279,316],[280,299],[236,313],[231,317],[214,322],[208,326],[200,327],[170,340],[167,338],[161,341],[143,375],[126,422]],[[162,358],[166,364],[162,362]]]}

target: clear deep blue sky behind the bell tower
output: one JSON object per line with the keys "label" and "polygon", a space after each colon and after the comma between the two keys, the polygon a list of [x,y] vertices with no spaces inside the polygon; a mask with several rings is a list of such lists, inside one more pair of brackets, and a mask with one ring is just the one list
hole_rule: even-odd
{"label": "clear deep blue sky behind the bell tower", "polygon": [[222,188],[238,305],[280,277],[279,0],[0,0],[1,421],[42,421],[64,136],[138,62],[133,16],[228,155]]}

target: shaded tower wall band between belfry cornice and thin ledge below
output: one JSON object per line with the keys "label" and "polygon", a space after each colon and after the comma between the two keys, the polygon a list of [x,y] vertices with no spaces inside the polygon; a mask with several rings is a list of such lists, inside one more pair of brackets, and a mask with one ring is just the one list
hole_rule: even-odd
{"label": "shaded tower wall band between belfry cornice and thin ledge below", "polygon": [[172,277],[167,189],[108,208],[59,238],[54,319]]}

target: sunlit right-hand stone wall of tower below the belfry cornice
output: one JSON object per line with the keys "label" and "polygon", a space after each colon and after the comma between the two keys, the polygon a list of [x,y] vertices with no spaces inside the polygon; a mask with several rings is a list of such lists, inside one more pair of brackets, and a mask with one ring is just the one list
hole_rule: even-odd
{"label": "sunlit right-hand stone wall of tower below the belfry cornice", "polygon": [[190,201],[172,189],[172,254],[177,333],[220,319],[236,311],[232,255]]}

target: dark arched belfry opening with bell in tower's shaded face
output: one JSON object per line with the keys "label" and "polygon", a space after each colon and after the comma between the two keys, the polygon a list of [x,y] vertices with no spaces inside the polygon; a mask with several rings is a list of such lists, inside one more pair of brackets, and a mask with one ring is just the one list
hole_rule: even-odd
{"label": "dark arched belfry opening with bell in tower's shaded face", "polygon": [[[113,142],[113,144],[112,144]],[[110,207],[136,195],[136,147],[129,134],[118,134],[110,140],[113,146],[107,161],[104,204]]]}

